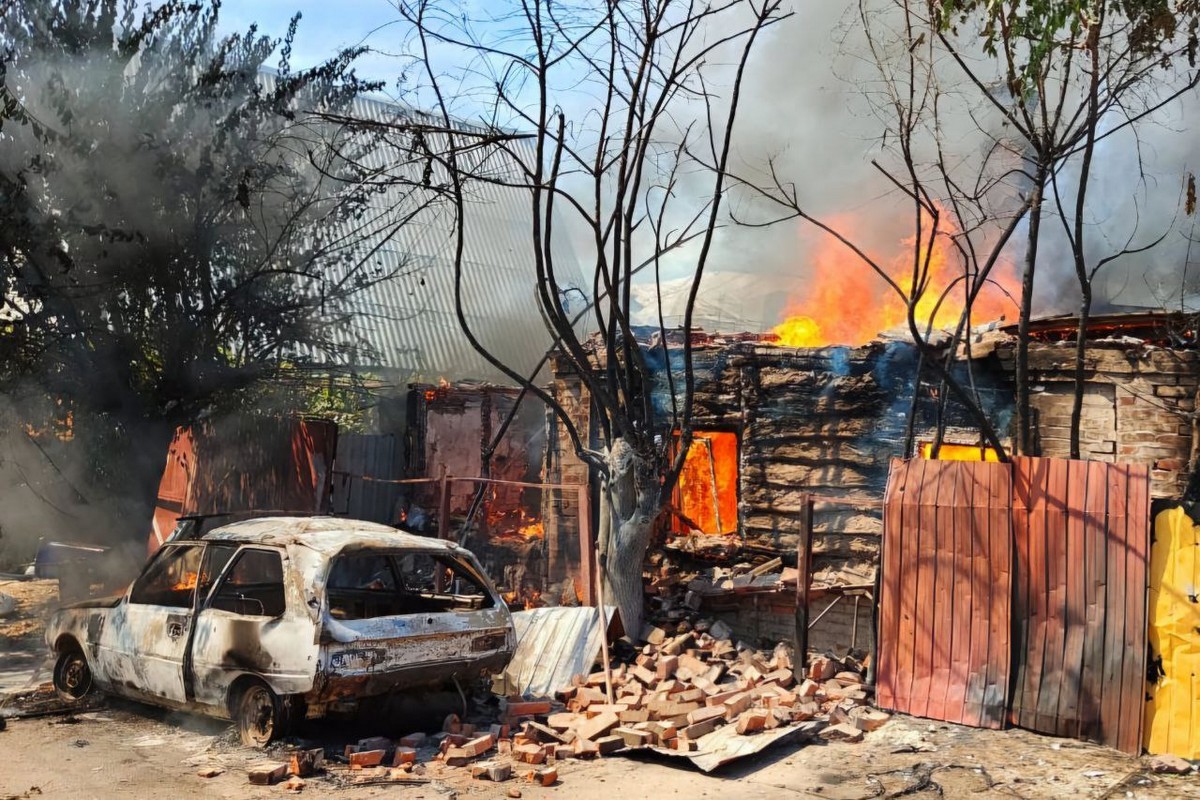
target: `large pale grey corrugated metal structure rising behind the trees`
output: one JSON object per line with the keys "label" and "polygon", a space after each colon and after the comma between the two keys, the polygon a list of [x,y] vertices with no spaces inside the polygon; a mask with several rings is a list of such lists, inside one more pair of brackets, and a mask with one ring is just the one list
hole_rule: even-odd
{"label": "large pale grey corrugated metal structure rising behind the trees", "polygon": [[[376,122],[412,119],[415,112],[379,100],[354,101],[355,118]],[[431,122],[437,120],[431,118]],[[470,128],[461,124],[463,130]],[[438,143],[432,142],[431,148]],[[406,181],[419,184],[424,162],[414,160],[412,142],[389,137],[367,154],[365,162],[380,169],[404,173]],[[527,142],[509,143],[511,152],[492,148],[478,150],[464,160],[473,170],[514,175],[517,158],[532,162],[533,148]],[[448,178],[432,168],[430,184],[437,186]],[[463,309],[476,337],[503,362],[523,374],[536,366],[551,345],[538,311],[532,237],[530,194],[522,188],[474,181],[467,187],[466,241],[463,254]],[[434,192],[415,191],[412,185],[388,188],[372,200],[372,211],[380,215],[413,215],[394,230],[373,233],[360,252],[378,247],[373,266],[388,277],[355,293],[350,301],[352,329],[347,341],[362,343],[354,361],[364,367],[384,367],[407,373],[409,380],[480,379],[510,384],[502,372],[475,351],[462,332],[455,314],[452,209],[433,203]],[[424,206],[424,207],[422,207]],[[397,213],[398,212],[398,213]],[[556,212],[556,216],[557,212]],[[335,235],[347,235],[349,227],[338,225]],[[568,241],[565,225],[556,221],[552,253],[556,273],[564,287],[583,287],[580,264]]]}

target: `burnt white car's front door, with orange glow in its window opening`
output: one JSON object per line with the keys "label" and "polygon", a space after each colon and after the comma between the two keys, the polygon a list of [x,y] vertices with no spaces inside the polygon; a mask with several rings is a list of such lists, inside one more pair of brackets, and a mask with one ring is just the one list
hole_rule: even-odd
{"label": "burnt white car's front door, with orange glow in its window opening", "polygon": [[97,661],[110,688],[184,703],[196,585],[204,547],[163,547],[113,609],[100,633]]}

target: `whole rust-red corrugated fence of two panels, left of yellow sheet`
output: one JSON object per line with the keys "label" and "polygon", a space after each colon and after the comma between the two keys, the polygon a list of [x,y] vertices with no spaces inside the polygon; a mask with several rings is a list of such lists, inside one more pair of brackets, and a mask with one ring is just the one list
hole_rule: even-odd
{"label": "whole rust-red corrugated fence of two panels, left of yellow sheet", "polygon": [[1138,752],[1148,504],[1138,465],[893,462],[880,704]]}

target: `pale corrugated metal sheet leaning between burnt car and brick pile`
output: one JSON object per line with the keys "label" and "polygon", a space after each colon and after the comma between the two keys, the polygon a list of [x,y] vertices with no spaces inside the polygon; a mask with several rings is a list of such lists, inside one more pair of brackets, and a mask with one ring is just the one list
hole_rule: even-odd
{"label": "pale corrugated metal sheet leaning between burnt car and brick pile", "polygon": [[[608,622],[616,606],[606,609]],[[527,698],[551,697],[571,685],[575,675],[592,672],[600,655],[596,609],[560,606],[514,612],[517,649],[497,691]]]}

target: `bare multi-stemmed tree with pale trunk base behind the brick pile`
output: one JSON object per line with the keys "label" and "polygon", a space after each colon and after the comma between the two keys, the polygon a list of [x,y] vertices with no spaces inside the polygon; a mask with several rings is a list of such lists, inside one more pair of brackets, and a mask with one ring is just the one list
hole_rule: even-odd
{"label": "bare multi-stemmed tree with pale trunk base behind the brick pile", "polygon": [[[472,344],[493,366],[539,397],[564,423],[601,482],[600,564],[605,595],[629,636],[641,631],[642,561],[652,529],[683,469],[692,437],[692,309],[713,239],[722,224],[731,140],[745,65],[761,32],[781,19],[778,0],[656,0],[648,4],[552,4],[523,0],[476,28],[456,7],[433,0],[397,5],[412,23],[433,104],[445,126],[442,162],[456,198],[456,305]],[[488,31],[503,31],[490,36]],[[451,48],[466,76],[439,73],[434,52]],[[474,88],[487,108],[484,131],[530,132],[532,157],[505,143],[516,170],[480,169],[464,151],[478,130],[457,125],[456,92]],[[568,101],[582,108],[568,113]],[[469,187],[494,181],[528,194],[530,257],[538,313],[558,355],[581,375],[599,440],[529,375],[503,363],[474,335],[462,311],[463,245],[472,230]],[[686,185],[686,192],[682,187]],[[575,326],[556,264],[562,221],[590,241],[590,341]],[[686,243],[686,246],[684,246]],[[652,398],[653,375],[634,331],[631,284],[643,265],[692,276],[678,372],[668,361],[671,410]],[[660,326],[661,327],[661,326]],[[667,331],[660,330],[664,347]]]}

